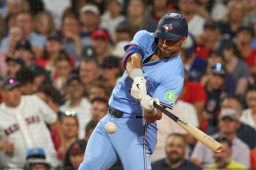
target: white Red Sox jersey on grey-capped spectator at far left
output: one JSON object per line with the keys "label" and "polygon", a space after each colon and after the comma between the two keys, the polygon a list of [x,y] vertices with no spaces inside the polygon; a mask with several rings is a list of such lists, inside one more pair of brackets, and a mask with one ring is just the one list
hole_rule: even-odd
{"label": "white Red Sox jersey on grey-capped spectator at far left", "polygon": [[[0,140],[14,144],[12,155],[6,154],[11,169],[22,169],[29,148],[44,149],[46,161],[53,167],[58,164],[50,131],[46,123],[56,122],[57,114],[35,95],[22,96],[18,107],[0,105]],[[46,123],[45,123],[46,122]]]}

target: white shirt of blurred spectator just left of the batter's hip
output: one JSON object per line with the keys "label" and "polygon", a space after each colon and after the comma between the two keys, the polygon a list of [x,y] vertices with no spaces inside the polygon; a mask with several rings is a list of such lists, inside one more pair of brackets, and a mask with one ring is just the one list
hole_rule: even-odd
{"label": "white shirt of blurred spectator just left of the batter's hip", "polygon": [[76,107],[70,107],[70,103],[71,101],[67,100],[63,105],[60,106],[60,111],[63,113],[66,111],[76,112],[79,123],[79,139],[84,139],[85,127],[92,119],[92,104],[86,98],[83,98],[80,104]]}

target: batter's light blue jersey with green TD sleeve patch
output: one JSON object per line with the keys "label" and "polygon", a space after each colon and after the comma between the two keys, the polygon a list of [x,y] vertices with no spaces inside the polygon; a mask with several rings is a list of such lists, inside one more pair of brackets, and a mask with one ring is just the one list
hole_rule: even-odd
{"label": "batter's light blue jersey with green TD sleeve patch", "polygon": [[[125,49],[131,44],[137,45],[143,50],[142,63],[158,48],[153,33],[145,30],[136,33],[131,43],[125,46]],[[170,59],[143,63],[142,71],[146,79],[148,95],[158,98],[160,104],[172,109],[184,84],[184,69],[180,54]],[[125,70],[122,78],[116,84],[108,104],[124,113],[141,116],[140,102],[136,101],[129,93],[132,83],[133,80]]]}

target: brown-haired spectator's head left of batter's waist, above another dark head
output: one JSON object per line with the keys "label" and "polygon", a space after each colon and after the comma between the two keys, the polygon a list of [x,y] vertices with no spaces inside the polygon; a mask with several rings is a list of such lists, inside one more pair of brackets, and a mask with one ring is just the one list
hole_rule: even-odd
{"label": "brown-haired spectator's head left of batter's waist, above another dark head", "polygon": [[108,101],[110,95],[109,88],[104,83],[96,82],[89,89],[88,100],[92,102],[94,98],[105,98]]}

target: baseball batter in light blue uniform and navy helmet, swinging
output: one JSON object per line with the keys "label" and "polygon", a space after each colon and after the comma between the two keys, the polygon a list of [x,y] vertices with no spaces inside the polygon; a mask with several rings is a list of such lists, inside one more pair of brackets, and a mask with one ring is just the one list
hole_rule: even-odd
{"label": "baseball batter in light blue uniform and navy helmet, swinging", "polygon": [[[170,13],[160,19],[155,33],[139,31],[124,47],[124,74],[109,99],[108,114],[92,132],[79,170],[109,169],[118,159],[127,170],[151,169],[156,120],[162,117],[153,102],[172,109],[178,98],[184,81],[180,47],[187,36],[186,19]],[[116,123],[115,133],[104,129],[108,122]]]}

